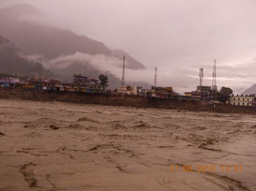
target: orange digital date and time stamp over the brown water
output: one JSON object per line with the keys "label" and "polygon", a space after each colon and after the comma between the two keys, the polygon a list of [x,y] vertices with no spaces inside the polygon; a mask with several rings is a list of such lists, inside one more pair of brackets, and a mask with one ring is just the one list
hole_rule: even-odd
{"label": "orange digital date and time stamp over the brown water", "polygon": [[241,172],[242,171],[242,165],[170,165],[170,172],[177,172],[177,171],[183,171],[183,172]]}

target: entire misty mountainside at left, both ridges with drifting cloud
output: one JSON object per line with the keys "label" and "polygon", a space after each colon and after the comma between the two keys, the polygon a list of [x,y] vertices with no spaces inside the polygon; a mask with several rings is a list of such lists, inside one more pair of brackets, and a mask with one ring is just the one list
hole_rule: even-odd
{"label": "entire misty mountainside at left, both ridges with drifting cloud", "polygon": [[[33,19],[40,14],[30,4],[0,9],[0,35],[4,37],[0,38],[2,71],[31,76],[43,68],[41,72],[45,76],[63,82],[71,82],[73,74],[90,75],[98,79],[103,73],[109,77],[109,87],[113,89],[120,85],[121,80],[107,68],[114,65],[121,72],[123,54],[126,54],[127,68],[146,68],[123,50],[112,51],[100,41]],[[36,62],[38,60],[42,61],[44,67]],[[149,87],[144,82],[127,85]]]}

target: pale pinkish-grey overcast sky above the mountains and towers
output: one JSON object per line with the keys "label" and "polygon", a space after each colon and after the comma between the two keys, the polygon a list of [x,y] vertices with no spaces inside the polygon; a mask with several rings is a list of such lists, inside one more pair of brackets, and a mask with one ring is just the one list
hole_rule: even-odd
{"label": "pale pinkish-grey overcast sky above the mountains and towers", "polygon": [[256,83],[255,0],[1,0],[0,7],[16,3],[34,5],[55,26],[127,51],[148,68],[127,74],[130,79],[153,84],[157,65],[158,85],[192,91],[200,67],[203,85],[212,85],[217,59],[218,87],[241,93]]}

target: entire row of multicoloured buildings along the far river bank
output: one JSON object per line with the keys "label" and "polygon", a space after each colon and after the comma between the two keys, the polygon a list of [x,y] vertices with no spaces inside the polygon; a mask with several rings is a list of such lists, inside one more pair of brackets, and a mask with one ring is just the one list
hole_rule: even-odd
{"label": "entire row of multicoloured buildings along the far river bank", "polygon": [[[59,80],[47,79],[36,76],[33,79],[19,79],[15,77],[0,77],[0,87],[25,87],[50,91],[84,92],[90,94],[105,93],[106,88],[98,80],[81,74],[73,75],[72,83],[61,83]],[[197,86],[196,91],[184,92],[179,95],[172,87],[155,87],[144,89],[142,87],[118,86],[112,94],[129,94],[151,99],[172,100],[212,100],[214,90],[211,86]],[[231,105],[256,106],[256,94],[230,96],[227,102]]]}

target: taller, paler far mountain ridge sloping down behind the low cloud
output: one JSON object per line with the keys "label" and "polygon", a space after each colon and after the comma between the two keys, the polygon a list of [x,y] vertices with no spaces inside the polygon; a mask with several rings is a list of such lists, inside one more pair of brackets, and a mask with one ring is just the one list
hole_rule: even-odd
{"label": "taller, paler far mountain ridge sloping down behind the low cloud", "polygon": [[[76,52],[90,55],[115,55],[122,59],[123,53],[126,53],[122,50],[112,51],[102,42],[84,35],[24,19],[36,17],[39,14],[39,11],[30,4],[17,4],[0,9],[0,35],[12,40],[28,54],[43,55],[44,59],[48,60]],[[128,68],[146,68],[128,53],[126,57]]]}

